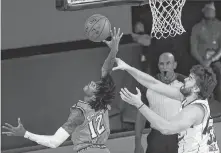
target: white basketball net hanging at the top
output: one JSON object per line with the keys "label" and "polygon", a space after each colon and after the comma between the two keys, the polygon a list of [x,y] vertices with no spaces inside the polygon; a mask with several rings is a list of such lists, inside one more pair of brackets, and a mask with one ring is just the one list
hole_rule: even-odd
{"label": "white basketball net hanging at the top", "polygon": [[149,0],[153,16],[152,37],[174,37],[185,32],[181,22],[185,2],[186,0]]}

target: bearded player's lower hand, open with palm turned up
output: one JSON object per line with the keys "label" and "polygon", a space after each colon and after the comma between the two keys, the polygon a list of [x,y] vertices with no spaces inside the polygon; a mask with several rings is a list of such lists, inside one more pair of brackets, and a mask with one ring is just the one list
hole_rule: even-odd
{"label": "bearded player's lower hand, open with palm turned up", "polygon": [[141,101],[141,92],[138,88],[136,88],[137,94],[132,94],[127,88],[121,88],[120,97],[123,101],[127,102],[128,104],[134,105],[139,107],[142,105]]}

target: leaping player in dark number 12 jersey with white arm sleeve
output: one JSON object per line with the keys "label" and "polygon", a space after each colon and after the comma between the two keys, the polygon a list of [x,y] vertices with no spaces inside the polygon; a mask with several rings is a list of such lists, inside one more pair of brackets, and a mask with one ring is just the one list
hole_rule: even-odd
{"label": "leaping player in dark number 12 jersey with white arm sleeve", "polygon": [[111,49],[102,67],[101,80],[91,81],[84,87],[84,101],[71,107],[70,115],[54,135],[38,135],[27,131],[18,119],[18,126],[5,123],[7,136],[22,136],[40,145],[56,148],[69,136],[72,137],[74,150],[79,152],[109,153],[105,143],[110,134],[108,107],[115,96],[115,84],[110,75],[118,52],[123,33],[120,29],[111,31],[112,40],[104,42]]}

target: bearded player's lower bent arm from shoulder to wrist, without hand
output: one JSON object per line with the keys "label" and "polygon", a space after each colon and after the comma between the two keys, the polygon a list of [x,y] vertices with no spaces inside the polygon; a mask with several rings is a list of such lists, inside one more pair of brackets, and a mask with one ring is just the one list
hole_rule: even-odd
{"label": "bearded player's lower bent arm from shoulder to wrist, without hand", "polygon": [[199,104],[185,107],[170,121],[165,120],[145,105],[139,110],[151,123],[152,128],[159,130],[165,135],[180,133],[190,128],[192,125],[201,122],[205,114],[204,108]]}

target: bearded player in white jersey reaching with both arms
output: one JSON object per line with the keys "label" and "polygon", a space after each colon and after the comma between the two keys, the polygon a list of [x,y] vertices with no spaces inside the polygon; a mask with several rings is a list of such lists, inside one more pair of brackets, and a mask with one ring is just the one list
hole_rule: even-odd
{"label": "bearded player in white jersey reaching with both arms", "polygon": [[[136,106],[151,123],[151,127],[159,130],[162,134],[178,133],[179,153],[210,152],[208,142],[214,140],[209,139],[207,132],[210,119],[210,108],[207,98],[211,95],[217,83],[216,76],[211,69],[204,68],[201,65],[193,66],[189,77],[184,80],[184,85],[179,90],[129,66],[121,59],[116,59],[116,62],[118,66],[113,68],[113,70],[126,70],[143,86],[172,99],[182,101],[183,108],[172,119],[166,120],[143,104],[138,88],[136,95],[129,92],[126,88],[122,88],[120,92],[122,100]],[[216,149],[216,152],[219,152],[219,148]]]}

